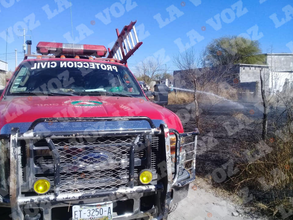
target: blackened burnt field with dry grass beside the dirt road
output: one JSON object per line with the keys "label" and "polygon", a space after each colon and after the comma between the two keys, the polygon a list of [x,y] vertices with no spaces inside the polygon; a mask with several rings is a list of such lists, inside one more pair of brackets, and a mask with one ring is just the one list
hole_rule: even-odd
{"label": "blackened burnt field with dry grass beside the dirt road", "polygon": [[[194,104],[167,105],[185,131],[196,127]],[[261,140],[262,105],[231,101],[199,101],[195,184],[211,186],[216,194],[274,219],[293,215],[293,141],[282,130],[284,116],[270,109],[268,138]],[[253,215],[253,214],[251,214]]]}

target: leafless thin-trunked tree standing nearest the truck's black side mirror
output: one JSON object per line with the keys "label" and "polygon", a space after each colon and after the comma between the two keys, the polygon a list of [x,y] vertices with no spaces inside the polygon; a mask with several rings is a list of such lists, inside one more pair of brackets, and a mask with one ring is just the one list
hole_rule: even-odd
{"label": "leafless thin-trunked tree standing nearest the truck's black side mirror", "polygon": [[198,59],[196,58],[196,53],[194,48],[185,50],[184,52],[173,57],[173,62],[179,70],[184,72],[184,75],[189,79],[194,86],[194,103],[195,103],[195,119],[196,126],[199,128],[199,113],[197,104],[197,77],[199,72],[197,71]]}

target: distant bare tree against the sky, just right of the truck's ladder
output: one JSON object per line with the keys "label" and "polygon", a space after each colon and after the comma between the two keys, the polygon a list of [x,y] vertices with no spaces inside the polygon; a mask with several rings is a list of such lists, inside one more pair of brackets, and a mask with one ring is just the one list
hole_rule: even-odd
{"label": "distant bare tree against the sky, just right of the truck's ladder", "polygon": [[163,73],[164,68],[162,68],[161,60],[154,57],[147,57],[135,67],[136,76],[145,81],[147,85]]}

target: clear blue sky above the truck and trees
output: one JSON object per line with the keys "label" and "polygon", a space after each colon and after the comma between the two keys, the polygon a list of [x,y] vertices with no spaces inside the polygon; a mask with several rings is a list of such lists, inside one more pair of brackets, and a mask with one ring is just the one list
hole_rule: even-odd
{"label": "clear blue sky above the truck and trees", "polygon": [[[242,34],[253,40],[258,39],[263,53],[270,49],[270,45],[273,45],[274,53],[293,53],[291,0],[72,0],[71,3],[73,35],[74,39],[78,37],[76,42],[80,44],[107,47],[116,40],[115,28],[121,31],[131,20],[137,20],[136,27],[140,27],[138,35],[143,45],[129,58],[131,69],[145,57],[160,55],[160,59],[166,61],[168,71],[172,72],[175,70],[172,57],[184,50],[186,43],[200,51],[212,39],[224,35]],[[23,37],[17,36],[23,32],[18,32],[18,28],[32,29],[27,32],[33,42],[32,52],[39,41],[72,41],[69,0],[2,0],[0,10],[0,60],[5,61],[6,28],[9,28],[9,70],[15,68],[15,48],[19,52],[18,63],[23,59]],[[83,31],[81,36],[77,29]],[[184,47],[180,48],[179,42]]]}

